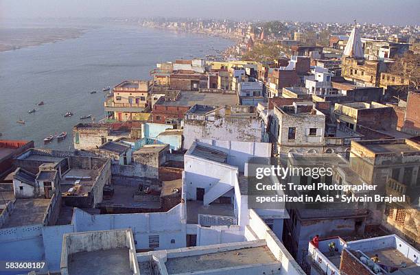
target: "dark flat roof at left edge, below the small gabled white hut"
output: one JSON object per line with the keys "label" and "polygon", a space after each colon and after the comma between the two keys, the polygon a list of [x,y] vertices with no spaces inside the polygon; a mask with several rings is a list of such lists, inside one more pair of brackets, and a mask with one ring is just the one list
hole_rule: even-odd
{"label": "dark flat roof at left edge, below the small gabled white hut", "polygon": [[2,228],[43,224],[50,199],[16,199],[12,215]]}

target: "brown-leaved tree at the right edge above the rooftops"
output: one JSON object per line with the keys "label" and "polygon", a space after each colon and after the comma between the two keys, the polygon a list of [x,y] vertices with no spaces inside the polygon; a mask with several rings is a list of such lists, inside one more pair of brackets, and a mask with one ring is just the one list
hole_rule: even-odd
{"label": "brown-leaved tree at the right edge above the rooftops", "polygon": [[390,73],[400,75],[409,81],[409,90],[420,89],[420,55],[406,52],[403,56],[395,59],[390,66]]}

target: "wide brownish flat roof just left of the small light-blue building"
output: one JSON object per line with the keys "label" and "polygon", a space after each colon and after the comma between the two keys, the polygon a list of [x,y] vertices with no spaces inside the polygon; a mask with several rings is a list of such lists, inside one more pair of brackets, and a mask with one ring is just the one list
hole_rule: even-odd
{"label": "wide brownish flat roof just left of the small light-blue building", "polygon": [[181,91],[180,97],[176,101],[160,100],[158,105],[163,106],[194,106],[211,105],[211,106],[225,106],[239,104],[239,98],[236,94],[222,94],[222,93],[200,93],[198,91]]}

